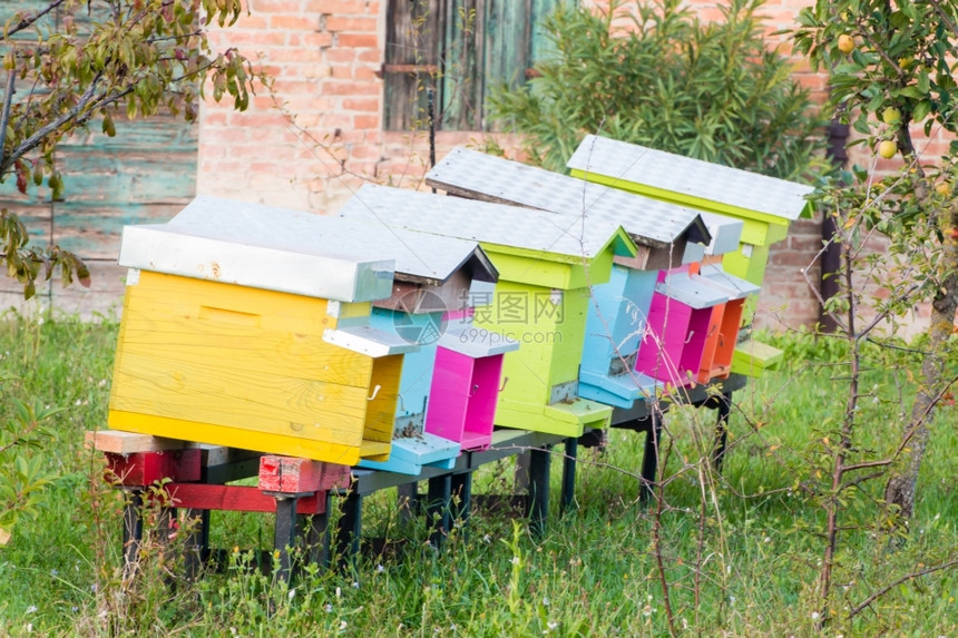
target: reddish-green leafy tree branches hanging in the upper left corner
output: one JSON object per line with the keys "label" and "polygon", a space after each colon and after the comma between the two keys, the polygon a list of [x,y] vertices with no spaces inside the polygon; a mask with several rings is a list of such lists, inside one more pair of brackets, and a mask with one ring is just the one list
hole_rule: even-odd
{"label": "reddish-green leafy tree branches hanging in the upper left corner", "polygon": [[[11,8],[3,13],[10,16]],[[0,181],[61,196],[55,150],[65,137],[160,109],[196,118],[204,91],[245,109],[255,75],[235,50],[213,51],[207,27],[232,24],[242,0],[29,0],[2,23]],[[0,266],[31,296],[38,278],[88,283],[76,255],[37,247],[12,210],[0,210]]]}

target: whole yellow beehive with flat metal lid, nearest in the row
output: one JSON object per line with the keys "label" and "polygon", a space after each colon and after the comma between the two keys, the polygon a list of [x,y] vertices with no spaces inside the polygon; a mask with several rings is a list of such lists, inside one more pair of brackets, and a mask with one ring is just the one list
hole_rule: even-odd
{"label": "whole yellow beehive with flat metal lid, nearest in the row", "polygon": [[414,350],[368,326],[392,262],[283,236],[283,214],[197,198],[125,229],[110,428],[340,464],[388,457]]}

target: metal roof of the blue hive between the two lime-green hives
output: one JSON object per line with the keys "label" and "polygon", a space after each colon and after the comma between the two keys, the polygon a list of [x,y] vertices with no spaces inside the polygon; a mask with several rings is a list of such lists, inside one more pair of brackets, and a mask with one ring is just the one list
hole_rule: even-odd
{"label": "metal roof of the blue hive between the two lime-green hives", "polygon": [[692,242],[711,239],[698,212],[692,208],[462,147],[449,153],[426,180],[453,195],[613,220],[637,244],[653,247],[665,247],[683,234]]}

